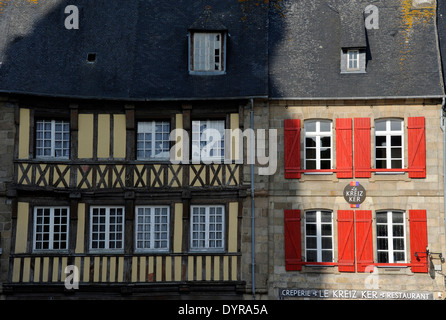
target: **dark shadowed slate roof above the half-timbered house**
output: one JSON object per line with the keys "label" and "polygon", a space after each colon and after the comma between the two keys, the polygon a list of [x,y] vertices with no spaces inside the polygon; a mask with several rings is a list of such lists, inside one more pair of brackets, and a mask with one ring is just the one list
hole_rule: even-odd
{"label": "dark shadowed slate roof above the half-timbered house", "polygon": [[[0,92],[124,100],[268,94],[264,5],[238,0],[10,0],[0,5]],[[79,8],[78,30],[64,27],[67,5]],[[207,6],[212,16],[206,24]],[[225,75],[189,74],[188,29],[206,26],[224,26],[228,32]],[[89,53],[96,54],[95,63],[87,62]]]}

